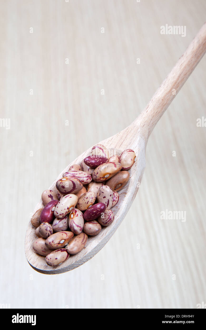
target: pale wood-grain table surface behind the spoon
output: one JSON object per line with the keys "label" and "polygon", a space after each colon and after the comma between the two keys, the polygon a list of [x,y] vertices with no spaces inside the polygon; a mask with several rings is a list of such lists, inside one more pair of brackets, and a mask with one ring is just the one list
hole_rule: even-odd
{"label": "pale wood-grain table surface behind the spoon", "polygon": [[[42,191],[85,149],[140,114],[205,11],[204,0],[1,1],[0,116],[10,118],[10,129],[2,121],[0,303],[206,303],[206,127],[197,127],[206,118],[206,57],[151,134],[137,197],[106,246],[81,267],[51,276],[35,272],[24,255]],[[160,34],[166,24],[186,26],[186,36]],[[162,220],[166,210],[185,211],[186,221]]]}

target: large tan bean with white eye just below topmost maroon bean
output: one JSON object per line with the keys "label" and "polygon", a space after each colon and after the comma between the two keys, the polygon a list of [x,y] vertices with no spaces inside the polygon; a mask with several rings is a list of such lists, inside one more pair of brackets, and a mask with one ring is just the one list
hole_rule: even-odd
{"label": "large tan bean with white eye just below topmost maroon bean", "polygon": [[122,169],[122,165],[120,163],[114,163],[114,162],[104,163],[96,167],[96,169],[92,173],[92,177],[93,180],[96,182],[103,182],[113,177],[121,169]]}

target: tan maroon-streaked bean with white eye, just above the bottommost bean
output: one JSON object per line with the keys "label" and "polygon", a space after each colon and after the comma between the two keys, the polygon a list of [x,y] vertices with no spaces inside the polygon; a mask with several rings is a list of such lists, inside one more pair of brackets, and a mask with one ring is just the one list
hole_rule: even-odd
{"label": "tan maroon-streaked bean with white eye, just above the bottommost bean", "polygon": [[45,245],[50,249],[63,248],[67,243],[71,241],[74,234],[71,231],[59,231],[52,234],[46,239]]}

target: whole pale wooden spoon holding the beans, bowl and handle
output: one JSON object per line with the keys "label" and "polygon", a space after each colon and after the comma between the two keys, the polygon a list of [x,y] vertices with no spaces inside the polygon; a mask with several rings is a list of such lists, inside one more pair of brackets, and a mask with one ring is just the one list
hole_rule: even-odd
{"label": "whole pale wooden spoon holding the beans, bowl and handle", "polygon": [[[204,23],[185,53],[180,57],[170,74],[157,89],[140,116],[123,131],[99,142],[107,149],[115,149],[117,154],[120,154],[125,149],[133,149],[137,156],[135,164],[129,170],[129,182],[119,191],[119,202],[112,208],[115,214],[113,223],[107,227],[103,227],[97,236],[89,237],[86,247],[81,252],[70,255],[65,262],[57,267],[50,267],[46,264],[45,257],[35,253],[32,248],[32,243],[34,239],[36,239],[36,235],[35,228],[29,221],[25,236],[25,255],[33,269],[44,274],[60,274],[70,271],[91,259],[108,242],[124,219],[137,194],[144,173],[145,148],[151,131],[194,70],[205,51],[206,23]],[[60,173],[49,189],[56,192],[56,181],[62,178],[62,174],[66,172],[72,164],[80,164],[85,157],[90,155],[90,152],[91,148],[83,152],[70,163],[62,173]],[[40,200],[34,209],[34,213],[42,207],[43,204]]]}

